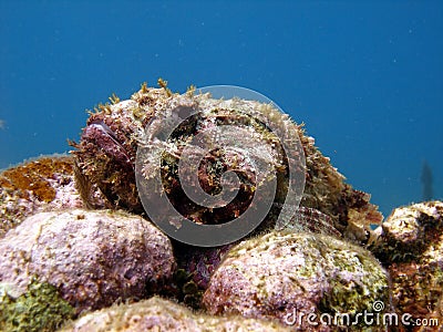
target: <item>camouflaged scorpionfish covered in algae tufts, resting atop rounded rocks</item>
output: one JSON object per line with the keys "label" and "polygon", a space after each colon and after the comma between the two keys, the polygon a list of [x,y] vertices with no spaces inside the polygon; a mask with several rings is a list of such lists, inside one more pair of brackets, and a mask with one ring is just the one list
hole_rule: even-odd
{"label": "camouflaged scorpionfish covered in algae tufts, resting atop rounded rocks", "polygon": [[[120,101],[114,96],[111,104],[99,105],[95,112],[91,113],[80,142],[71,142],[76,148],[73,152],[76,180],[87,206],[95,205],[91,194],[95,191],[91,191],[91,188],[100,188],[110,207],[143,212],[136,178],[147,181],[161,174],[162,186],[148,186],[146,190],[166,195],[171,205],[188,220],[206,225],[225,224],[245,212],[253,198],[258,197],[259,206],[260,198],[271,195],[272,208],[267,215],[270,220],[265,220],[264,225],[272,226],[272,220],[279,216],[287,193],[293,185],[289,181],[289,165],[306,158],[306,168],[302,167],[306,187],[300,205],[310,211],[318,210],[327,216],[324,220],[330,222],[331,228],[329,234],[339,234],[351,241],[365,243],[371,234],[370,225],[381,222],[382,216],[378,208],[369,203],[370,195],[354,190],[346,184],[344,177],[315,146],[313,138],[306,135],[302,125],[296,124],[287,115],[281,115],[272,104],[237,97],[218,100],[213,98],[209,93],[195,93],[195,89],[189,89],[183,94],[173,93],[162,80],[159,85],[159,89],[155,89],[144,84],[131,100]],[[152,124],[155,118],[162,118],[158,127],[182,120],[166,141],[162,142],[162,152],[155,149],[158,142],[146,142],[145,128],[155,127]],[[267,124],[284,128],[282,135],[277,135]],[[223,207],[206,207],[187,197],[188,193],[181,184],[179,165],[181,162],[187,160],[182,158],[182,154],[195,137],[226,126],[243,129],[230,135],[229,143],[238,146],[229,151],[208,151],[197,165],[196,172],[192,167],[183,172],[189,178],[193,173],[197,173],[195,185],[209,195],[220,193],[224,187],[223,175],[227,170],[234,169],[237,174],[240,186],[235,199]],[[250,149],[257,152],[261,158],[259,163],[250,163],[245,154],[236,153],[236,148],[245,148],[241,133],[246,132],[264,142],[262,146]],[[286,143],[300,143],[302,148],[288,156],[284,148]],[[141,158],[138,169],[136,160],[140,158],[137,151],[141,146],[154,152]],[[262,153],[264,151],[267,153]],[[155,153],[161,154],[161,163],[156,162],[158,156],[155,156]],[[266,173],[262,180],[258,181],[257,169],[261,169],[262,165],[267,165],[272,172]],[[276,193],[266,191],[259,196],[259,189],[274,179],[277,179]],[[196,186],[188,186],[188,190]],[[297,205],[293,207],[293,210],[296,209]],[[158,215],[168,216],[162,211]],[[300,222],[305,220],[306,218],[299,218]]]}

